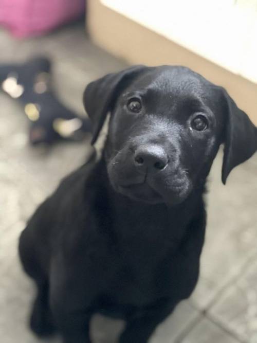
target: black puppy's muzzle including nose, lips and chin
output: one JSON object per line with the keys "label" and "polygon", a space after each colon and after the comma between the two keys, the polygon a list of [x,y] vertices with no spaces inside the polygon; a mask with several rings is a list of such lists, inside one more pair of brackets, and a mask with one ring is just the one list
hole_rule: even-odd
{"label": "black puppy's muzzle including nose, lips and chin", "polygon": [[108,163],[111,184],[132,200],[180,203],[188,193],[189,180],[174,155],[170,158],[164,147],[155,144],[123,148]]}

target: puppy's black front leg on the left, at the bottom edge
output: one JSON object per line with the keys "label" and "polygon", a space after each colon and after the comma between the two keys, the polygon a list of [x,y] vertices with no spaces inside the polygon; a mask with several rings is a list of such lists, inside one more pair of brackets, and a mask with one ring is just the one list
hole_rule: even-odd
{"label": "puppy's black front leg on the left, at the bottom edge", "polygon": [[75,273],[74,269],[68,269],[70,273],[67,273],[67,268],[60,261],[53,261],[50,309],[64,343],[91,343],[89,322],[92,294],[86,288],[83,276]]}

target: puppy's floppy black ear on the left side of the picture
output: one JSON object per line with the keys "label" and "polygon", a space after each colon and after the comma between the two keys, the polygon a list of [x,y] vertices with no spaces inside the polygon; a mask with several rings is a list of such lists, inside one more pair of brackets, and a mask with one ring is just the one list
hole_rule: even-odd
{"label": "puppy's floppy black ear on the left side of the picture", "polygon": [[118,93],[144,69],[146,67],[142,65],[133,66],[119,73],[108,74],[87,85],[83,102],[93,126],[92,144],[98,138],[107,113],[113,109]]}

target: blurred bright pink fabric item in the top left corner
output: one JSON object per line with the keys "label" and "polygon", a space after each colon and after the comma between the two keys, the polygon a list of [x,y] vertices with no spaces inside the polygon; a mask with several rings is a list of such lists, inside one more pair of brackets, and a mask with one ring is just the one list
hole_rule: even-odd
{"label": "blurred bright pink fabric item in the top left corner", "polygon": [[76,19],[85,0],[0,0],[0,25],[16,37],[39,35]]}

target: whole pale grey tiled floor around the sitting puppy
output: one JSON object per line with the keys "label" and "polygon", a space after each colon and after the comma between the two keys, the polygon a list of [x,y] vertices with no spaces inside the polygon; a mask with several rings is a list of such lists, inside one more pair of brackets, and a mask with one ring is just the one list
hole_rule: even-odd
{"label": "whole pale grey tiled floor around the sitting puppy", "polygon": [[[92,45],[82,25],[24,42],[0,31],[0,51],[0,63],[47,53],[54,62],[60,97],[80,113],[85,84],[125,66]],[[89,152],[88,142],[51,150],[30,148],[26,129],[19,105],[0,94],[0,339],[4,343],[40,341],[26,326],[34,289],[17,259],[17,237],[35,206]],[[152,343],[257,343],[257,154],[231,173],[226,187],[221,183],[221,164],[222,151],[210,176],[198,286],[191,299],[160,325]],[[114,342],[121,327],[121,322],[97,316],[92,326],[95,341]],[[58,337],[46,341],[60,342]]]}

